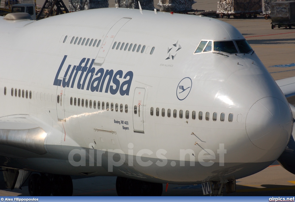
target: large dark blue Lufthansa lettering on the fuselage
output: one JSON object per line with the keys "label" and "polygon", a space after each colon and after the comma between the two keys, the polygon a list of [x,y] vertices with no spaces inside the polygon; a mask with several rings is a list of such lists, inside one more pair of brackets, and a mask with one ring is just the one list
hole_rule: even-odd
{"label": "large dark blue Lufthansa lettering on the fuselage", "polygon": [[[65,87],[73,88],[75,86],[76,78],[79,77],[77,82],[78,89],[83,90],[87,83],[87,87],[86,87],[87,91],[89,91],[89,89],[91,90],[91,92],[104,91],[104,93],[110,92],[112,95],[117,94],[119,91],[120,95],[122,96],[129,95],[131,83],[133,79],[132,71],[128,71],[124,75],[124,77],[123,77],[122,70],[117,70],[117,72],[114,72],[114,70],[112,69],[104,70],[104,68],[99,68],[99,70],[96,71],[95,66],[93,66],[94,59],[90,59],[90,58],[82,58],[79,65],[68,64],[67,69],[65,69],[63,68],[63,66],[65,65],[66,58],[67,58],[67,55],[63,57],[63,60],[60,63],[60,66],[58,68],[58,71],[55,75],[55,79],[53,82],[54,86],[62,85],[64,88]],[[83,65],[83,63],[85,64]],[[60,72],[64,72],[64,76],[62,79],[59,79]],[[79,72],[80,72],[80,75],[78,75]],[[105,82],[106,82],[106,85],[104,85]]]}

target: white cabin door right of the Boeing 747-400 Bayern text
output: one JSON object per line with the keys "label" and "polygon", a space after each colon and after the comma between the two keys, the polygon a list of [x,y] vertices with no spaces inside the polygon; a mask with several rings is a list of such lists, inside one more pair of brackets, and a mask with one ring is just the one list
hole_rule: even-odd
{"label": "white cabin door right of the Boeing 747-400 Bayern text", "polygon": [[133,98],[133,131],[144,132],[145,121],[145,88],[135,88]]}

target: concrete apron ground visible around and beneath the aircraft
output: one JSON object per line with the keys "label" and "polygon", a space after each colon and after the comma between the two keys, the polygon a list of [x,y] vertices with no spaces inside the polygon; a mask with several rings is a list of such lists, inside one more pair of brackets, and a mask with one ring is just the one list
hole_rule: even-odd
{"label": "concrete apron ground visible around and beneath the aircraft", "polygon": [[[43,5],[37,0],[38,5]],[[113,1],[113,0],[112,0]],[[114,2],[109,1],[109,7]],[[158,1],[155,0],[155,7]],[[217,0],[201,0],[194,9],[216,10]],[[258,16],[256,19],[219,18],[232,24],[247,39],[255,53],[275,80],[295,76],[295,28],[271,29],[271,19]],[[185,30],[183,30],[185,33]],[[93,177],[73,180],[73,196],[117,196],[116,177]],[[203,196],[200,185],[163,185],[162,196]],[[266,169],[237,180],[235,193],[224,196],[294,196],[295,175],[280,165]],[[0,196],[29,196],[27,186],[22,190],[0,190]]]}

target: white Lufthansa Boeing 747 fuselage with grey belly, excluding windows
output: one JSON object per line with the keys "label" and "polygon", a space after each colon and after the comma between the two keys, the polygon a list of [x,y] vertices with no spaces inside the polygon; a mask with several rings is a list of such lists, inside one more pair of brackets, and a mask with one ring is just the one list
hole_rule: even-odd
{"label": "white Lufthansa Boeing 747 fuselage with grey belly, excluding windows", "polygon": [[[289,104],[255,52],[194,54],[201,40],[244,40],[217,19],[107,8],[40,21],[1,17],[0,27],[2,167],[154,183],[227,182],[266,168],[291,136]],[[78,45],[76,37],[101,42]],[[141,48],[124,50],[127,43]],[[138,156],[152,165],[142,166]]]}

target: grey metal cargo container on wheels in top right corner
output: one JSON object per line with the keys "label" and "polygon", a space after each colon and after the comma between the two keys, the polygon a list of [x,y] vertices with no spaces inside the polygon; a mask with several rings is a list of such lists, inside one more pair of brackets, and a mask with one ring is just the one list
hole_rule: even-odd
{"label": "grey metal cargo container on wheels in top right corner", "polygon": [[295,26],[295,1],[271,2],[271,29]]}

